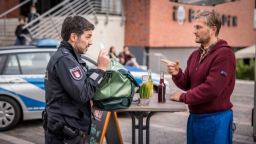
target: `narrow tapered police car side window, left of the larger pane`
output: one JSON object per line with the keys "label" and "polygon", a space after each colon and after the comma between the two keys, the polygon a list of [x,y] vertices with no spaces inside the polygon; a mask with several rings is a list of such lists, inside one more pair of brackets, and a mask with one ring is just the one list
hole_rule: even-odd
{"label": "narrow tapered police car side window, left of the larger pane", "polygon": [[10,55],[6,63],[3,74],[20,74],[16,55]]}

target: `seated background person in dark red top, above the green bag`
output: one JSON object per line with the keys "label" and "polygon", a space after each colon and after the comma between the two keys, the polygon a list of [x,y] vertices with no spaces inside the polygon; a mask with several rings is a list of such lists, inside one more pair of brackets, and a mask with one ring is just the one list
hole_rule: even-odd
{"label": "seated background person in dark red top, above the green bag", "polygon": [[131,58],[134,57],[134,55],[129,51],[128,46],[123,46],[123,51],[119,53],[118,57],[120,58],[120,62],[123,65],[133,66],[134,63],[131,61]]}

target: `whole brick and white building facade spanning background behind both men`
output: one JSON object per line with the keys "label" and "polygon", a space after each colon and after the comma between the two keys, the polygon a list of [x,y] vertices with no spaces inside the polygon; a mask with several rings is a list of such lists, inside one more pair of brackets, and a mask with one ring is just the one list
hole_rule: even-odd
{"label": "whole brick and white building facade spanning background behind both men", "polygon": [[[0,14],[22,1],[24,0],[0,0]],[[37,0],[37,11],[42,14],[61,1],[63,0]],[[101,0],[102,3],[104,1],[106,0]],[[120,0],[108,1],[113,3]],[[166,72],[166,65],[160,62],[160,58],[179,60],[181,68],[186,67],[189,54],[199,46],[194,42],[193,34],[193,17],[199,10],[215,9],[220,13],[223,24],[218,37],[225,39],[233,50],[255,44],[256,0],[235,0],[216,6],[183,4],[182,24],[177,20],[180,3],[170,0],[121,1],[125,18],[121,15],[106,16],[101,13],[98,16],[99,21],[94,22],[93,16],[88,17],[95,24],[94,43],[91,48],[98,51],[98,43],[101,41],[107,49],[115,46],[118,54],[123,45],[127,45],[140,65],[147,65],[154,71]],[[26,15],[31,3],[30,1],[7,14],[7,18]],[[96,58],[95,51],[91,50],[89,54]]]}

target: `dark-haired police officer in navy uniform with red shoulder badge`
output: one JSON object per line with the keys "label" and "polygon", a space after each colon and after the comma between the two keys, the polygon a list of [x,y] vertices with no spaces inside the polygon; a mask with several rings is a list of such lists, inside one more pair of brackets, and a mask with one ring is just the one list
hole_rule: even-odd
{"label": "dark-haired police officer in navy uniform with red shoulder badge", "polygon": [[68,16],[63,21],[63,40],[45,72],[45,143],[84,143],[90,132],[90,98],[110,62],[105,48],[101,49],[96,70],[86,76],[88,66],[80,54],[85,54],[92,44],[93,29],[92,23],[78,15]]}

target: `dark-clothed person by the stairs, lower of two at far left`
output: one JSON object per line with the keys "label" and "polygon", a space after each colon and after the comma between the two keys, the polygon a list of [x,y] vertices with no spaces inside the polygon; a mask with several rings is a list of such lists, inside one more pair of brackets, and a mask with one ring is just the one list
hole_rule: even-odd
{"label": "dark-clothed person by the stairs, lower of two at far left", "polygon": [[22,29],[22,26],[25,24],[25,17],[23,15],[20,15],[18,17],[19,25],[17,25],[16,30],[15,30],[15,35],[17,39],[15,40],[14,45],[25,45],[26,39],[25,39],[25,34],[28,33],[27,29]]}

